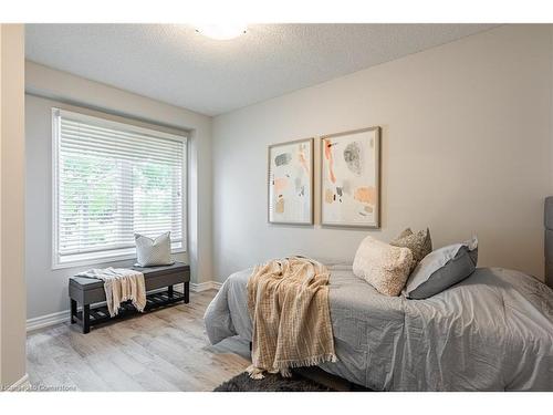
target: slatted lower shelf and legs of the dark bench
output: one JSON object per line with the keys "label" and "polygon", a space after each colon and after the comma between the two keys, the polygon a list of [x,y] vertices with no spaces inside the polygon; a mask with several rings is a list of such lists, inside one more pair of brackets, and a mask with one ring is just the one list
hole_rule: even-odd
{"label": "slatted lower shelf and legs of the dark bench", "polygon": [[[148,312],[179,301],[188,303],[188,295],[186,295],[186,293],[174,291],[171,287],[165,291],[157,291],[146,294],[146,307],[144,311]],[[128,318],[136,314],[140,313],[135,309],[131,301],[121,303],[119,312],[115,317],[109,315],[109,311],[107,310],[106,304],[96,307],[84,305],[82,311],[72,311],[71,323],[79,323],[83,328],[83,333],[88,333],[91,326],[93,325],[106,323],[108,321],[114,321],[117,319]]]}

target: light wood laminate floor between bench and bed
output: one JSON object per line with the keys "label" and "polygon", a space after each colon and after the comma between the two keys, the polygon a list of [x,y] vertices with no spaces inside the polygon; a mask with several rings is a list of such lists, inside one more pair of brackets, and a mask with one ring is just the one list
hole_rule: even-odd
{"label": "light wood laminate floor between bench and bed", "polygon": [[75,391],[212,391],[250,364],[238,338],[208,342],[204,312],[216,291],[93,329],[59,324],[28,334],[28,373],[36,387]]}

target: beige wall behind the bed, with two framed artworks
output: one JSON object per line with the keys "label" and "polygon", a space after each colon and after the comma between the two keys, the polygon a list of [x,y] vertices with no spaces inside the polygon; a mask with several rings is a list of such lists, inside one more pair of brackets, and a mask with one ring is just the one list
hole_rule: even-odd
{"label": "beige wall behind the bed, with two framed artworks", "polygon": [[[290,253],[352,260],[366,235],[408,226],[435,247],[476,234],[480,266],[543,278],[551,44],[550,25],[505,25],[215,117],[216,278]],[[374,125],[380,230],[267,224],[269,144]]]}

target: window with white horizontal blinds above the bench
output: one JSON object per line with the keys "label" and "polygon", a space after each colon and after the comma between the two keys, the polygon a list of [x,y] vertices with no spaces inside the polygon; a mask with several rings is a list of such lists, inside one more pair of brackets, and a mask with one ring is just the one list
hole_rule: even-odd
{"label": "window with white horizontal blinds above the bench", "polygon": [[53,108],[53,266],[136,257],[134,234],[186,249],[185,136]]}

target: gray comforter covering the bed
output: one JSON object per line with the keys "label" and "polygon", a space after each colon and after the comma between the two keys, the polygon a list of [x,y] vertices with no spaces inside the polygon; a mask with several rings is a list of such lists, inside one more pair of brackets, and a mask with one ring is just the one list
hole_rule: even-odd
{"label": "gray comforter covering the bed", "polygon": [[[246,286],[230,276],[205,315],[212,344],[251,340]],[[553,291],[532,277],[479,268],[426,300],[385,297],[331,267],[337,363],[326,372],[379,391],[553,391]]]}

